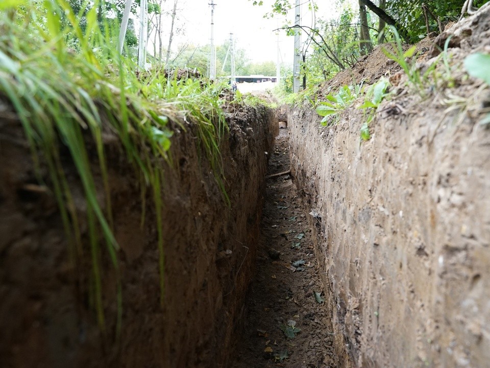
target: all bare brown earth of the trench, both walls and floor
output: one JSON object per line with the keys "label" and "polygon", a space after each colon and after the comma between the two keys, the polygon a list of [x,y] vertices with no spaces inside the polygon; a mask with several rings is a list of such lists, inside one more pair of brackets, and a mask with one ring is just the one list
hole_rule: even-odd
{"label": "all bare brown earth of the trench, both walls and floor", "polygon": [[[46,170],[47,186],[0,103],[0,366],[490,366],[490,131],[478,124],[488,87],[456,72],[472,50],[490,51],[489,24],[480,13],[449,30],[461,38],[450,50],[454,88],[427,86],[421,98],[380,48],[326,86],[323,94],[396,77],[396,97],[379,107],[367,142],[362,101],[328,128],[306,105],[290,110],[274,150],[270,111],[229,109],[221,149],[231,208],[192,126],[175,125],[175,167],[162,190],[163,307],[151,195],[141,227],[140,178],[107,135],[119,341],[115,272],[103,256],[103,336],[89,297],[90,251],[69,261]],[[60,152],[87,246],[80,182]],[[264,196],[267,155],[268,174],[290,167],[293,181],[268,178]],[[96,181],[103,203],[100,174]]]}

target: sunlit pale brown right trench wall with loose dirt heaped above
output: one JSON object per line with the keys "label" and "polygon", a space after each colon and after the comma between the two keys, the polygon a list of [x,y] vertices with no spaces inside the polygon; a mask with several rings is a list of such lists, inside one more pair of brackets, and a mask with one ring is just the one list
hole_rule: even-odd
{"label": "sunlit pale brown right trench wall with loose dirt heaped above", "polygon": [[410,69],[438,63],[420,84],[392,76],[367,126],[363,98],[329,127],[309,105],[289,111],[291,171],[344,366],[488,365],[488,85],[462,61],[490,49],[489,15],[450,29],[460,48]]}

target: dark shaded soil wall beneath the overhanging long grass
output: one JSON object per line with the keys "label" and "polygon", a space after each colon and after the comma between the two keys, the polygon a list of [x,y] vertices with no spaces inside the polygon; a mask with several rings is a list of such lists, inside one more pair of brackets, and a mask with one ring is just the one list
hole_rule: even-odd
{"label": "dark shaded soil wall beneath the overhanging long grass", "polygon": [[[231,207],[197,148],[192,127],[187,132],[176,127],[171,147],[175,167],[166,170],[162,189],[163,307],[151,193],[141,226],[140,178],[118,141],[110,134],[105,137],[115,236],[121,247],[123,315],[117,342],[115,273],[109,260],[103,259],[106,337],[96,325],[88,296],[90,248],[75,169],[63,158],[85,242],[77,268],[69,261],[54,196],[37,184],[18,122],[0,121],[0,366],[227,366],[254,264],[264,151],[270,150],[278,129],[277,117],[265,108],[230,114],[228,123],[230,133],[221,150]],[[93,162],[96,171],[95,157]]]}

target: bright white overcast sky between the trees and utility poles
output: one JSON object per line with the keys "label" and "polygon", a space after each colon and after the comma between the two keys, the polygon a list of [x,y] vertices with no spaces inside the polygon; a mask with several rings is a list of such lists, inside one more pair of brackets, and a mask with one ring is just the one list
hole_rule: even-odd
{"label": "bright white overcast sky between the trees and utility poles", "polygon": [[[294,0],[291,0],[294,2]],[[302,24],[312,26],[312,15],[307,10],[307,0],[302,1]],[[166,0],[164,9],[173,7],[173,0]],[[175,35],[173,50],[179,44],[192,43],[204,46],[209,44],[211,38],[211,0],[179,0],[178,17],[176,26],[183,32]],[[265,13],[271,10],[273,0],[264,0],[263,6],[254,6],[249,0],[214,0],[214,44],[222,44],[230,39],[233,33],[235,47],[247,51],[247,56],[252,62],[264,62],[278,60],[291,63],[294,54],[294,37],[286,36],[284,31],[276,32],[287,20],[294,22],[294,11],[290,10],[286,17],[278,16],[274,19],[265,19]],[[325,17],[325,14],[334,15],[334,1],[318,2],[320,9],[317,16]],[[168,10],[168,9],[167,9]],[[165,18],[163,27],[163,40],[168,42],[170,30],[170,18]],[[303,37],[305,37],[303,35]],[[153,38],[153,37],[151,37]],[[151,45],[149,50],[153,50]]]}

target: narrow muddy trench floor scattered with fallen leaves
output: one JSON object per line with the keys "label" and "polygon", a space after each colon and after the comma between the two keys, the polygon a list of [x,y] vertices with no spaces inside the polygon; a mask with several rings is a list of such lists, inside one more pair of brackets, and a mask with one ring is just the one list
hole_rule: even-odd
{"label": "narrow muddy trench floor scattered with fallen leaves", "polygon": [[[287,128],[269,154],[269,175],[289,170]],[[289,175],[267,178],[255,277],[233,368],[337,366],[306,216]]]}

